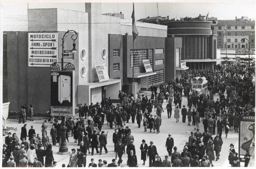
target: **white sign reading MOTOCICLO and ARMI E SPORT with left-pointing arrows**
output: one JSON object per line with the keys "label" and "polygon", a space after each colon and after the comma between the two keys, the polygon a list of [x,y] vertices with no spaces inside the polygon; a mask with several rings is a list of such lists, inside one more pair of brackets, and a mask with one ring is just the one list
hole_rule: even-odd
{"label": "white sign reading MOTOCICLO and ARMI E SPORT with left-pointing arrows", "polygon": [[29,32],[28,60],[31,67],[49,67],[58,62],[58,33]]}

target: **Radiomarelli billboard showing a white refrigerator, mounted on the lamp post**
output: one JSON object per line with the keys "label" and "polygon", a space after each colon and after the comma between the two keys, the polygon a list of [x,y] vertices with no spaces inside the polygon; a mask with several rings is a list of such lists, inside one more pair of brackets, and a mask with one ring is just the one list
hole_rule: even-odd
{"label": "Radiomarelli billboard showing a white refrigerator, mounted on the lamp post", "polygon": [[51,115],[75,115],[75,71],[51,71]]}

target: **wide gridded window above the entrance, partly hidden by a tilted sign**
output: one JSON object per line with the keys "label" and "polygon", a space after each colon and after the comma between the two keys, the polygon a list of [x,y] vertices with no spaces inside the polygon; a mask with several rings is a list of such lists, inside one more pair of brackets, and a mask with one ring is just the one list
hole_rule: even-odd
{"label": "wide gridded window above the entrance, partly hidden by a tilted sign", "polygon": [[[130,68],[132,68],[133,66],[134,68],[142,67],[142,60],[148,59],[148,49],[134,49],[134,56],[132,50],[133,49],[130,50]],[[134,57],[134,60],[132,59],[132,56]]]}

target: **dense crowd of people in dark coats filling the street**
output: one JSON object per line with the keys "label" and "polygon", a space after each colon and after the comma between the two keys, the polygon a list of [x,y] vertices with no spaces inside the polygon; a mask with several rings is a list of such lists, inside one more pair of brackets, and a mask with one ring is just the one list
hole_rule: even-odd
{"label": "dense crowd of people in dark coats filling the street", "polygon": [[[251,65],[253,66],[254,64]],[[222,131],[225,131],[227,138],[229,132],[239,132],[239,121],[242,116],[255,115],[255,83],[252,77],[246,75],[246,69],[247,67],[244,66],[227,64],[219,65],[214,70],[188,70],[182,73],[180,79],[176,78],[165,85],[151,86],[150,98],[146,95],[138,95],[135,99],[132,94],[119,91],[119,103],[116,105],[112,103],[110,97],[102,99],[101,103],[91,103],[89,106],[80,104],[79,118],[66,117],[65,119],[67,142],[69,142],[69,137],[73,137],[78,148],[71,150],[69,163],[62,166],[120,166],[125,153],[128,155],[126,165],[138,166],[134,136],[127,123],[135,123],[136,120],[138,128],[141,127],[141,123],[143,124],[144,132],[158,134],[164,111],[167,111],[168,118],[172,118],[172,112],[174,112],[176,123],[179,122],[181,113],[182,122],[186,123],[187,119],[187,125],[193,126],[192,129],[195,131],[190,133],[188,142],[184,143],[181,153],[177,151],[174,138],[169,134],[165,145],[168,155],[164,160],[157,152],[157,146],[161,145],[154,145],[153,141],[150,141],[148,145],[143,139],[140,145],[140,158],[143,160],[143,166],[147,157],[150,167],[214,166],[213,161],[220,159],[221,146],[224,141]],[[191,80],[198,76],[207,78],[207,94],[192,90]],[[184,96],[188,100],[186,105],[188,109],[185,105],[182,108]],[[214,97],[218,98],[214,100]],[[163,109],[164,101],[167,102],[166,109]],[[175,105],[174,111],[173,105]],[[32,105],[30,106],[32,108]],[[20,117],[25,123],[26,108],[22,108]],[[199,128],[200,123],[203,123],[204,129]],[[107,143],[108,132],[105,133],[102,130],[104,124],[107,124],[110,129],[114,128],[113,145],[116,158],[113,158],[111,163],[100,159],[98,165],[91,158],[87,165],[87,155],[93,156],[94,149],[97,154],[102,155],[102,149],[104,148],[105,153],[108,153],[107,145],[112,144]],[[50,133],[47,133],[48,126],[52,127]],[[6,136],[3,145],[3,167],[56,166],[52,146],[60,146],[61,143],[59,120],[54,117],[49,122],[44,120],[41,133],[36,133],[33,126],[27,132],[26,127],[25,123],[21,128],[20,138],[10,132]],[[213,135],[215,135],[214,138]],[[52,138],[52,143],[49,137]],[[163,154],[166,153],[161,152],[161,155]],[[228,159],[231,166],[240,166],[238,153],[233,144],[230,144]],[[250,155],[247,154],[245,159],[245,166],[247,166]]]}

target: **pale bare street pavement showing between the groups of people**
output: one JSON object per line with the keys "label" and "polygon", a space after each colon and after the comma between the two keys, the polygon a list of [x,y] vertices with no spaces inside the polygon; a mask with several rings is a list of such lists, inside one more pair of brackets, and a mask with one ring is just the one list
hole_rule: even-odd
{"label": "pale bare street pavement showing between the groups of people", "polygon": [[[141,94],[142,95],[142,94]],[[148,95],[148,97],[151,95],[151,92],[145,92],[144,95]],[[150,98],[150,97],[149,97]],[[215,100],[219,98],[217,95],[215,96]],[[136,123],[131,123],[131,119],[130,119],[130,123],[127,123],[126,126],[129,126],[129,128],[131,128],[131,135],[134,136],[134,145],[136,148],[136,155],[137,155],[137,160],[138,160],[138,166],[143,166],[143,160],[140,160],[140,144],[142,143],[141,141],[143,139],[146,140],[146,143],[149,145],[150,141],[154,142],[154,145],[157,147],[157,152],[159,154],[159,156],[161,157],[162,160],[164,160],[164,156],[168,155],[168,152],[166,150],[165,147],[165,141],[166,138],[168,137],[168,134],[171,134],[173,139],[174,139],[174,145],[177,146],[177,151],[178,152],[182,152],[183,151],[183,147],[185,145],[186,142],[188,142],[189,136],[190,136],[190,132],[195,132],[195,126],[188,126],[187,123],[187,119],[186,119],[186,123],[182,123],[182,116],[181,116],[181,110],[180,110],[180,119],[179,122],[176,123],[176,120],[174,118],[174,106],[172,108],[173,112],[172,112],[172,116],[170,119],[168,119],[167,117],[167,110],[166,110],[166,100],[164,100],[163,103],[163,109],[164,112],[162,113],[162,126],[160,127],[160,133],[150,133],[149,129],[147,132],[144,132],[144,127],[143,127],[143,123],[141,123],[141,127],[138,128],[138,125]],[[182,106],[185,105],[186,108],[187,107],[187,97],[183,97],[182,100]],[[192,107],[193,108],[193,107]],[[154,109],[152,114],[154,115]],[[7,126],[8,127],[17,127],[17,136],[20,137],[20,129],[23,126],[22,123],[18,123],[18,120],[7,120]],[[43,120],[34,120],[34,121],[28,121],[27,122],[27,131],[30,129],[30,126],[33,125],[34,129],[36,131],[36,133],[40,133],[41,134],[41,125],[43,123]],[[48,122],[47,122],[48,123]],[[49,136],[49,132],[51,129],[52,124],[48,123],[48,136]],[[200,123],[200,132],[203,133],[204,132],[204,126],[202,124],[202,122]],[[107,149],[108,149],[108,153],[105,154],[104,149],[102,150],[102,155],[96,154],[96,152],[94,152],[94,155],[90,155],[87,154],[87,166],[90,163],[90,159],[94,158],[95,163],[98,163],[99,159],[103,160],[107,160],[108,163],[111,163],[112,159],[115,158],[115,153],[114,153],[114,144],[112,142],[112,136],[114,133],[114,129],[110,129],[109,126],[107,126],[106,124],[106,120],[104,123],[104,126],[102,127],[102,130],[106,132],[108,132],[108,144],[107,144]],[[153,131],[153,130],[152,130]],[[216,129],[216,133],[217,133],[217,129]],[[215,135],[212,136],[213,138],[215,137]],[[223,145],[222,145],[222,149],[220,152],[220,159],[218,160],[218,162],[214,161],[213,165],[214,167],[230,167],[229,161],[228,161],[228,154],[229,154],[229,145],[230,143],[233,143],[235,145],[235,150],[236,152],[238,152],[238,146],[239,146],[239,133],[235,133],[235,132],[229,132],[228,137],[225,138],[225,133],[223,131],[222,134],[222,139],[223,139]],[[49,137],[50,138],[50,137]],[[4,142],[4,137],[3,137],[3,142]],[[52,143],[52,140],[50,138],[50,143]],[[74,139],[73,137],[69,137],[69,142],[67,142],[67,146],[68,146],[68,150],[71,152],[71,149],[75,148],[79,148],[79,146],[77,146],[77,143],[74,143]],[[125,147],[126,148],[126,147]],[[57,146],[52,146],[52,150],[53,150],[53,156],[54,156],[54,160],[58,162],[57,166],[61,167],[62,164],[67,164],[69,163],[69,155],[58,155],[58,144]],[[94,150],[95,151],[95,150]],[[117,158],[118,160],[118,158]],[[127,154],[123,155],[123,163],[121,164],[121,166],[126,166],[126,161],[127,161]],[[148,159],[145,162],[145,166],[149,166],[148,164]],[[243,166],[244,163],[241,163],[241,166]]]}

